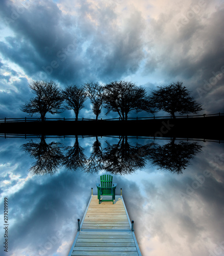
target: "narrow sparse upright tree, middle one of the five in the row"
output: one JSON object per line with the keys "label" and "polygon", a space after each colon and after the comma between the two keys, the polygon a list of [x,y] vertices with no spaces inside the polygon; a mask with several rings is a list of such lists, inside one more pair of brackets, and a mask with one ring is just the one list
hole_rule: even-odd
{"label": "narrow sparse upright tree, middle one of the five in the row", "polygon": [[96,115],[96,120],[101,113],[103,107],[103,87],[96,83],[85,83],[85,90],[91,103],[93,104],[93,113]]}

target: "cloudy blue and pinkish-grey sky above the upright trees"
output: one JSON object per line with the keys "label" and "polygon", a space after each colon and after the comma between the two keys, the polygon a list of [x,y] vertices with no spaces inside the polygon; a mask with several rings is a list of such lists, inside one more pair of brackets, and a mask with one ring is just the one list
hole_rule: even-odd
{"label": "cloudy blue and pinkish-grey sky above the upright trees", "polygon": [[[183,81],[203,104],[198,114],[223,113],[223,8],[220,0],[2,0],[0,118],[27,116],[28,84],[51,79],[61,88],[128,80],[148,93]],[[88,100],[79,117],[95,118]]]}

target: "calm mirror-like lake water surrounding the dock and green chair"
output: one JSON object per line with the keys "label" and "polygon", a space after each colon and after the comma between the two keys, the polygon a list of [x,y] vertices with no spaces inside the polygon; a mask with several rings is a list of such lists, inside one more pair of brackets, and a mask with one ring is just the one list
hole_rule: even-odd
{"label": "calm mirror-like lake water surrounding the dock and green chair", "polygon": [[[102,173],[113,172],[142,255],[224,255],[223,143],[0,138],[1,255],[68,255]],[[4,198],[8,253],[4,252]],[[5,225],[6,227],[6,225]]]}

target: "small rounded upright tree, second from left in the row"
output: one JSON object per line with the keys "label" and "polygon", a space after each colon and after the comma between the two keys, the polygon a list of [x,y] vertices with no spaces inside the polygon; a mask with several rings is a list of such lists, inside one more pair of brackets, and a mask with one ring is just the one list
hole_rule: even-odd
{"label": "small rounded upright tree, second from left in the row", "polygon": [[66,87],[63,91],[63,98],[65,100],[64,108],[73,110],[75,113],[76,121],[81,109],[84,108],[84,101],[86,100],[86,93],[83,87],[78,88],[75,84]]}

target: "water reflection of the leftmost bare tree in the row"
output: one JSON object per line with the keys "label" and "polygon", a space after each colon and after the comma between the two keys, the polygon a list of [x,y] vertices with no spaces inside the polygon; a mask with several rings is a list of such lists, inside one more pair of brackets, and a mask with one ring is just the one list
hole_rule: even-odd
{"label": "water reflection of the leftmost bare tree in the row", "polygon": [[28,152],[32,158],[37,159],[30,168],[33,174],[51,174],[53,175],[59,169],[63,155],[60,151],[61,143],[46,143],[44,135],[40,142],[29,142],[22,145],[24,151]]}

